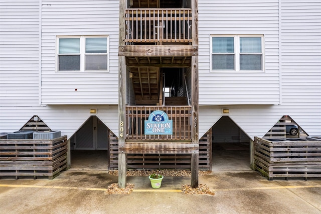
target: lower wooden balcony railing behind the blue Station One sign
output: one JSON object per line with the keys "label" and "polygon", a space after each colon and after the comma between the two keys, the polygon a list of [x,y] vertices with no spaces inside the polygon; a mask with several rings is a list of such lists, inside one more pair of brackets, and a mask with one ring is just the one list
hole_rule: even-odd
{"label": "lower wooden balcony railing behind the blue Station One sign", "polygon": [[[144,135],[144,121],[149,114],[160,110],[173,120],[173,135]],[[129,140],[186,140],[191,137],[192,106],[126,106],[127,136]]]}

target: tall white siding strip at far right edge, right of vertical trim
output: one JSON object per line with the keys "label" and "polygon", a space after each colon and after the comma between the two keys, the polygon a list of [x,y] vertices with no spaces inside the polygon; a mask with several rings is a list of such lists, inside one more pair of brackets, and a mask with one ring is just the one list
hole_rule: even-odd
{"label": "tall white siding strip at far right edge, right of vertical trim", "polygon": [[283,0],[281,9],[280,109],[321,135],[321,2]]}

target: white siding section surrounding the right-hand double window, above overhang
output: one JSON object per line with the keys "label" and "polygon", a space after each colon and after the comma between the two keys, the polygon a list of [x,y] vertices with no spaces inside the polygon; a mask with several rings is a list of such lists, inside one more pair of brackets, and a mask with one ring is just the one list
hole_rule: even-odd
{"label": "white siding section surrounding the right-hand double window, above overhang", "polygon": [[[279,104],[279,3],[199,1],[199,104]],[[263,35],[264,72],[211,72],[211,35]]]}

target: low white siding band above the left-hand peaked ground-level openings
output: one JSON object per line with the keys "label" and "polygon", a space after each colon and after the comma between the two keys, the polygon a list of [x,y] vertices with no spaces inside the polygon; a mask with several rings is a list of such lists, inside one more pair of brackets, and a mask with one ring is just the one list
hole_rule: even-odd
{"label": "low white siding band above the left-hand peaked ground-level openings", "polygon": [[118,134],[117,105],[54,105],[35,107],[1,107],[1,132],[20,130],[34,115],[38,115],[51,130],[61,131],[70,138],[91,117],[89,110],[98,109],[97,116],[114,134]]}

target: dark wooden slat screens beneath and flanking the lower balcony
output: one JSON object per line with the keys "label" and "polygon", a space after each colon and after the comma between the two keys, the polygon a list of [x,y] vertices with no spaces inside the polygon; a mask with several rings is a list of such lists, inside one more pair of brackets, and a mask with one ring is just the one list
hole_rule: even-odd
{"label": "dark wooden slat screens beneath and flanking the lower balcony", "polygon": [[[148,142],[146,142],[148,143]],[[108,169],[118,168],[118,139],[110,132]],[[199,142],[199,169],[211,170],[212,132],[206,133]],[[128,154],[128,169],[191,169],[191,154]]]}

